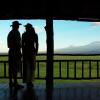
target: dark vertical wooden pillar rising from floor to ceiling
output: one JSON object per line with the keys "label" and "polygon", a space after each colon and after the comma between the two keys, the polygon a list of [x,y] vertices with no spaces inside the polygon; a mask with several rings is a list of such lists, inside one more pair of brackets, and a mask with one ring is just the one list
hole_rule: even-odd
{"label": "dark vertical wooden pillar rising from floor to ceiling", "polygon": [[53,19],[46,19],[46,34],[47,34],[47,68],[46,68],[46,89],[53,89]]}

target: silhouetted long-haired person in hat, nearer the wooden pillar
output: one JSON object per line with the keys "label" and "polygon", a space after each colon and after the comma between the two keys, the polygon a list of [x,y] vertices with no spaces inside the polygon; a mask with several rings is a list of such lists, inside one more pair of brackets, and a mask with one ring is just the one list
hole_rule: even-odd
{"label": "silhouetted long-haired person in hat, nearer the wooden pillar", "polygon": [[28,23],[25,25],[26,31],[22,34],[22,53],[23,53],[23,82],[27,87],[33,87],[36,67],[36,55],[38,53],[38,35],[33,26]]}

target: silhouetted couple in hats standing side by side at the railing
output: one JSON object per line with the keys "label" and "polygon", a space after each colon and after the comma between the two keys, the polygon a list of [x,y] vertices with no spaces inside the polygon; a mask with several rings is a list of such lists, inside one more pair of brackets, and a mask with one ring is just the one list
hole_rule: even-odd
{"label": "silhouetted couple in hats standing side by side at the railing", "polygon": [[[18,84],[17,74],[22,69],[23,61],[23,82],[27,83],[27,87],[32,87],[35,75],[35,59],[38,52],[38,36],[31,24],[26,24],[26,31],[22,35],[19,32],[18,21],[12,23],[12,30],[7,37],[9,48],[9,86],[17,89],[23,88]],[[22,48],[22,53],[21,53]]]}

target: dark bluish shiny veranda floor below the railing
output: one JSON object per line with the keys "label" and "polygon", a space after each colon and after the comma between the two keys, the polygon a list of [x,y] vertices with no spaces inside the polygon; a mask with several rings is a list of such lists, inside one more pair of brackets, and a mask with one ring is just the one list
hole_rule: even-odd
{"label": "dark bluish shiny veranda floor below the railing", "polygon": [[45,85],[35,84],[32,90],[24,87],[22,90],[10,91],[8,84],[0,84],[0,100],[100,100],[100,84],[59,84],[54,85],[51,92],[46,91]]}

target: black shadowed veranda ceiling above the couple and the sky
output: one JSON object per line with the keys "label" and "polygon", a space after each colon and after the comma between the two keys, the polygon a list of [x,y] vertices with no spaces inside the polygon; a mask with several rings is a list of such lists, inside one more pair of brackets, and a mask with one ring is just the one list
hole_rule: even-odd
{"label": "black shadowed veranda ceiling above the couple and the sky", "polygon": [[99,0],[4,0],[0,19],[46,19],[99,21]]}

